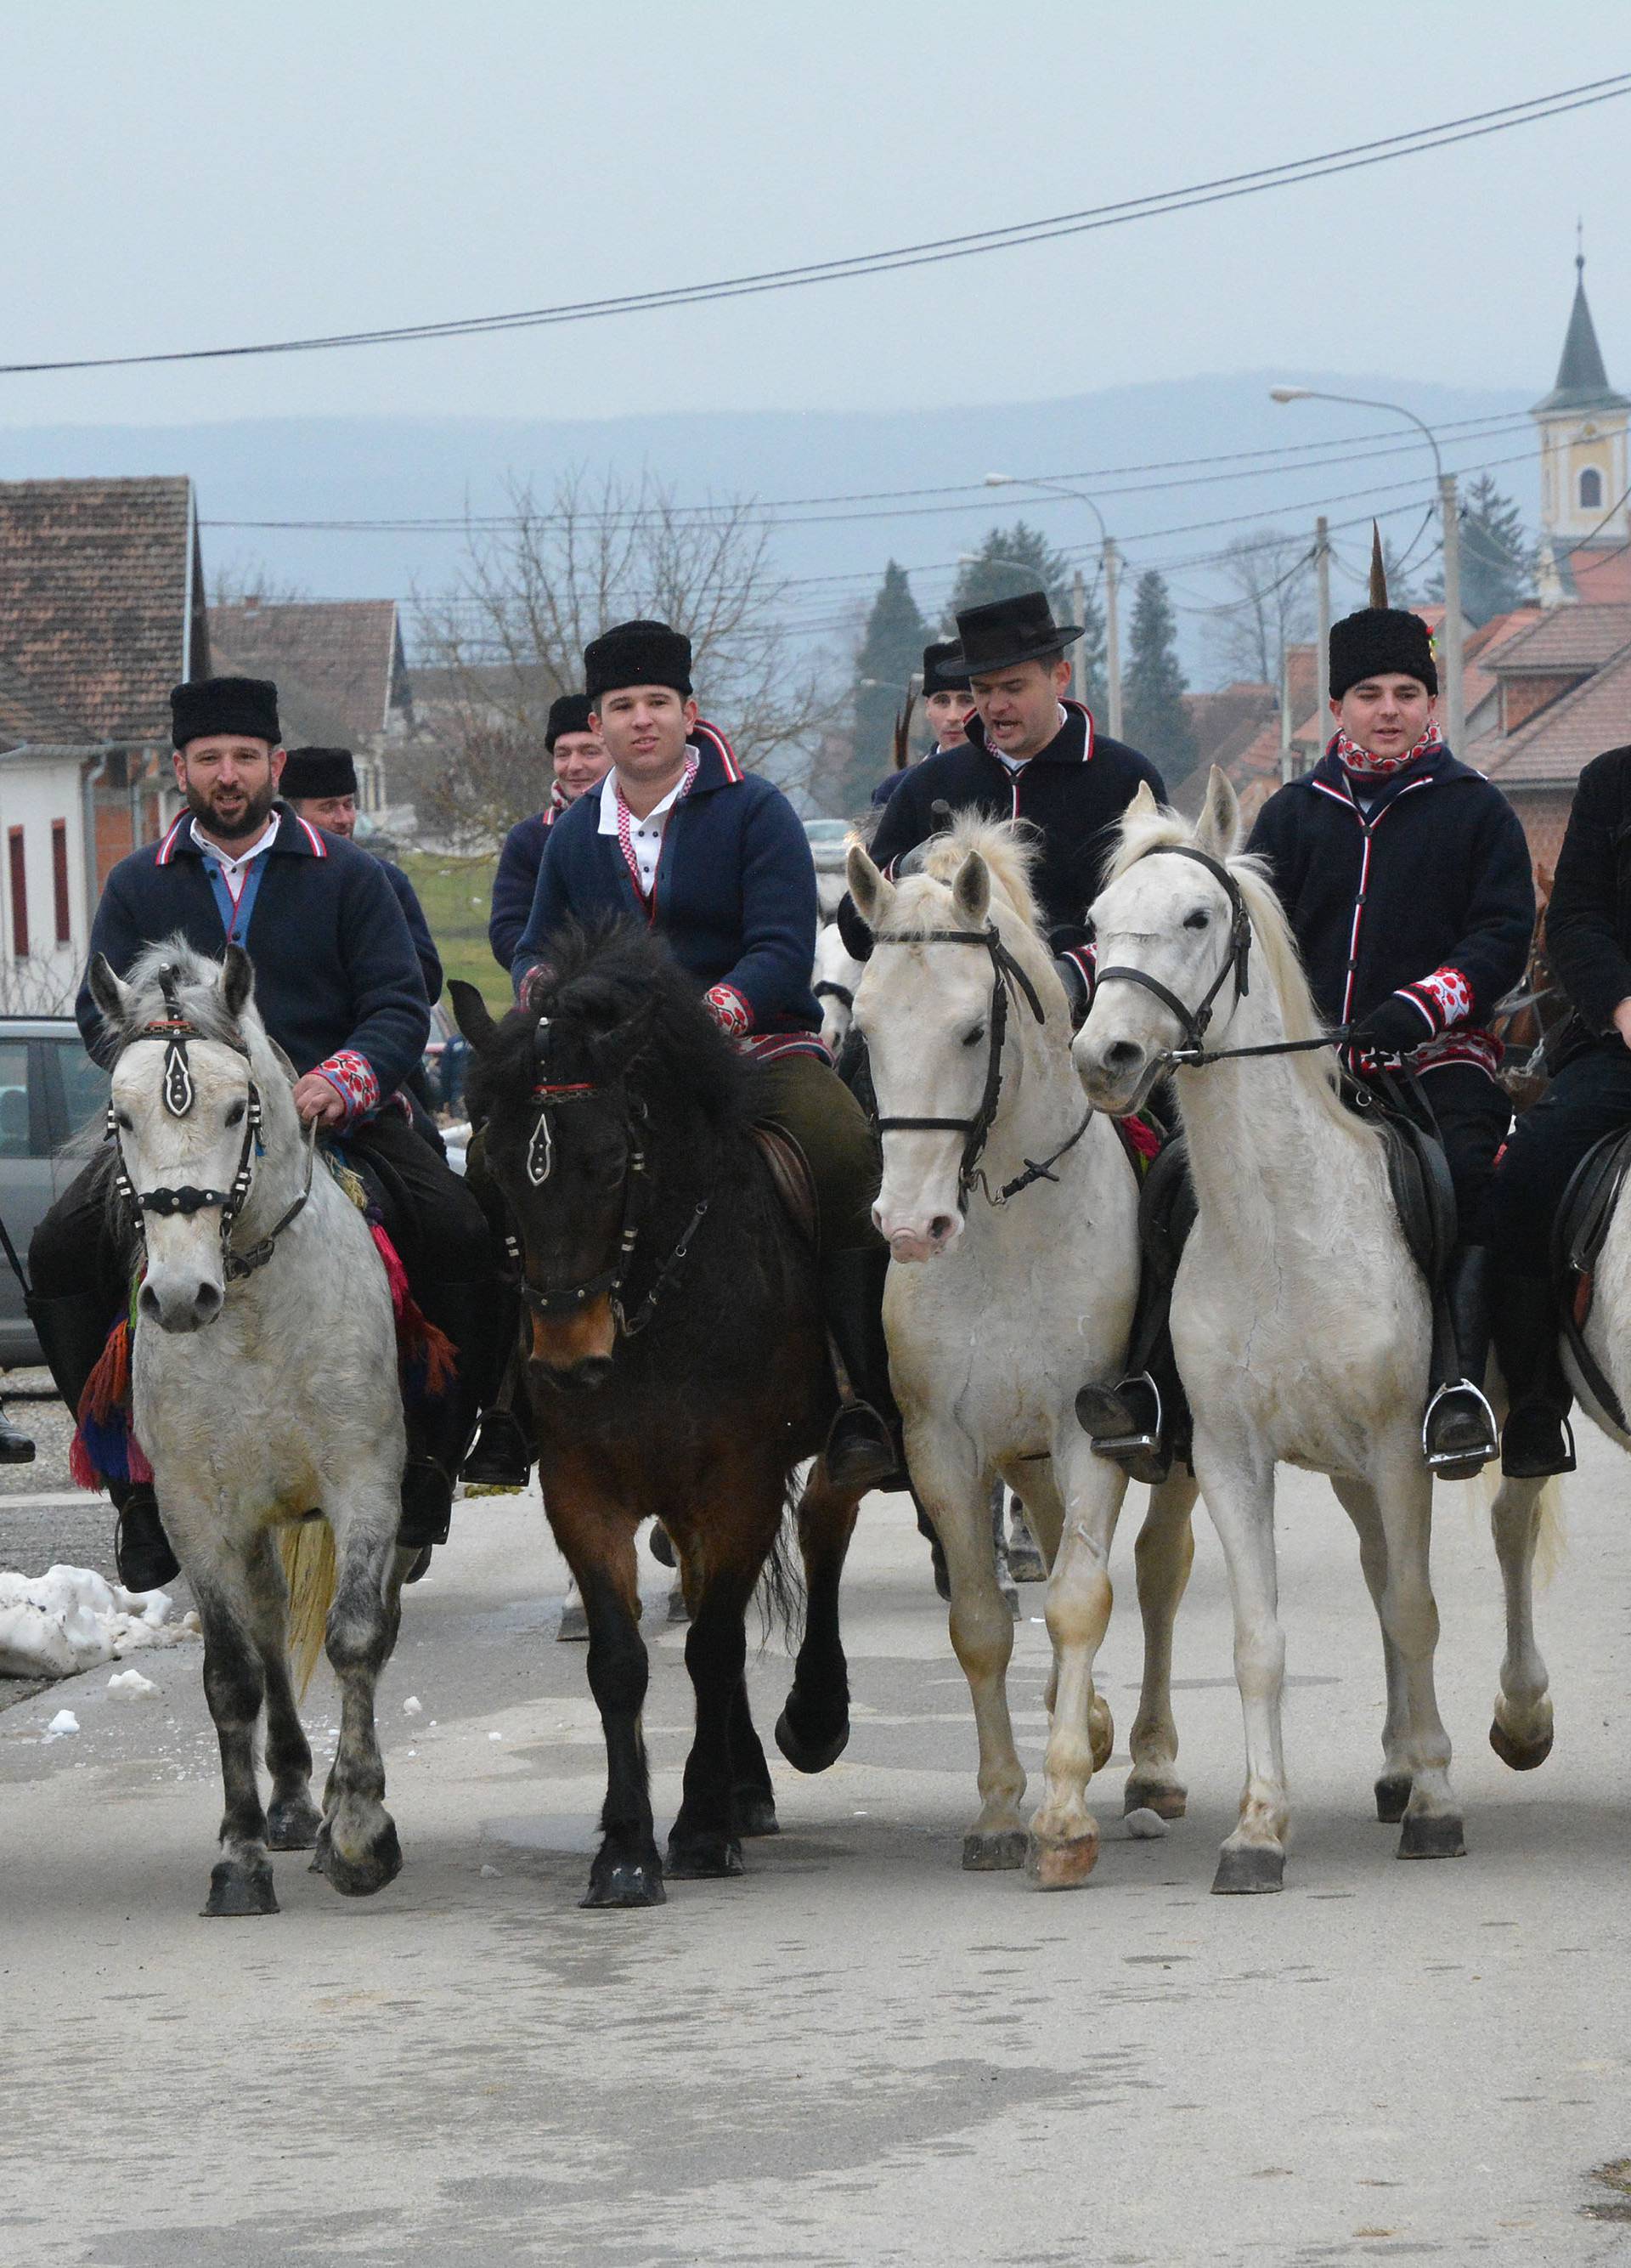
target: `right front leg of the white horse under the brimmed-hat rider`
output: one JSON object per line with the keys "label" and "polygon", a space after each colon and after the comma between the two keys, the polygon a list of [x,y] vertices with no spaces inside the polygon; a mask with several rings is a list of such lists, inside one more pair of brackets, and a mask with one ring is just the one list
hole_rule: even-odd
{"label": "right front leg of the white horse under the brimmed-hat rider", "polygon": [[[1064,1533],[1048,1576],[1053,1690],[1041,1803],[1030,1821],[1025,1871],[1041,1889],[1073,1889],[1098,1860],[1098,1821],[1087,1783],[1109,1762],[1114,1728],[1093,1692],[1093,1660],[1109,1626],[1109,1540],[1127,1492],[1127,1474],[1078,1433],[1059,1452],[1064,1465]],[[1055,1472],[1059,1465],[1055,1465]]]}

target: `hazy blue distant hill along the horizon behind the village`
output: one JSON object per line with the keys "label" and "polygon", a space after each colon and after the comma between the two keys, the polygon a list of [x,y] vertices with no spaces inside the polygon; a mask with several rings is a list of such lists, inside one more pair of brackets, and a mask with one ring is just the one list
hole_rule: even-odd
{"label": "hazy blue distant hill along the horizon behind the village", "polygon": [[[191,472],[204,519],[204,569],[263,562],[279,583],[313,596],[411,599],[442,587],[456,567],[458,538],[426,531],[320,533],[299,528],[227,528],[213,522],[256,519],[404,519],[463,517],[504,508],[510,474],[538,485],[574,467],[612,467],[637,476],[651,467],[681,501],[751,494],[760,499],[855,497],[876,490],[946,488],[987,472],[1082,476],[1098,492],[1130,572],[1173,567],[1186,667],[1193,683],[1216,678],[1205,642],[1205,606],[1218,599],[1207,567],[1186,567],[1234,533],[1257,524],[1311,531],[1322,499],[1332,519],[1427,494],[1425,447],[1370,465],[1259,469],[1209,465],[1171,472],[1182,458],[1216,458],[1248,449],[1293,449],[1343,435],[1375,435],[1381,447],[1397,422],[1332,404],[1275,406],[1277,379],[1334,392],[1402,401],[1429,424],[1499,420],[1522,413],[1529,395],[1502,388],[1420,386],[1397,376],[1241,376],[1166,379],[1084,392],[1066,401],[1016,401],[998,408],[860,413],[730,411],[717,415],[592,420],[485,417],[290,417],[193,426],[20,426],[0,429],[0,479],[75,474]],[[1540,392],[1538,376],[1533,392]],[[1529,431],[1459,440],[1445,431],[1445,458],[1456,467],[1493,465],[1495,479],[1533,519],[1538,456]],[[1515,458],[1515,463],[1502,463]],[[1284,465],[1286,460],[1282,460]],[[1295,465],[1295,458],[1288,460]],[[1114,467],[1157,467],[1148,474]],[[1245,476],[1236,476],[1245,474]],[[1152,485],[1168,483],[1168,485]],[[1404,485],[1397,485],[1404,483]],[[1143,492],[1132,492],[1141,485]],[[1352,497],[1350,492],[1366,490]],[[944,508],[950,506],[950,508]],[[835,517],[876,515],[876,517]],[[1096,547],[1091,513],[1021,490],[973,497],[855,501],[789,510],[778,531],[778,560],[810,581],[789,596],[789,619],[812,637],[844,642],[848,617],[871,599],[887,558],[912,569],[926,612],[937,610],[957,553],[998,519],[1028,517],[1066,549]],[[1234,526],[1195,526],[1239,517]],[[1406,542],[1415,519],[1388,522]],[[1189,533],[1171,533],[1189,531]],[[1338,538],[1359,558],[1357,538]],[[1347,596],[1350,585],[1343,585]]]}

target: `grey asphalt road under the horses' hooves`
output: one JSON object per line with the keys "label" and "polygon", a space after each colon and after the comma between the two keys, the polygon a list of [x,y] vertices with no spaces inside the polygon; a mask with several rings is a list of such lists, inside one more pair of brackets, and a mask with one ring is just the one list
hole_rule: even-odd
{"label": "grey asphalt road under the horses' hooves", "polygon": [[[973,1730],[901,1499],[848,1581],[855,1737],[778,1765],[737,1882],[585,1914],[601,1740],[535,1501],[458,1513],[383,1685],[406,1871],[204,1923],[218,1776],[197,1651],[0,1715],[0,2261],[1574,2263],[1631,2257],[1631,1470],[1590,1436],[1540,1603],[1543,1771],[1486,1746],[1499,1585],[1465,1492],[1436,1545],[1470,1857],[1370,1817],[1379,1644],[1329,1492],[1282,1499],[1295,1844],[1279,1898],[1209,1898],[1241,1778],[1205,1520],[1177,1631],[1189,1819],[1093,1880],[966,1876]],[[1105,1690],[1132,1717],[1130,1529]],[[658,1615],[662,1823],[690,1690]],[[1041,1592],[1016,1715],[1039,1753]],[[751,1669],[760,1724],[787,1685]],[[420,1715],[404,1715],[417,1696]],[[68,1703],[77,1737],[43,1742]],[[313,1724],[333,1730],[331,1690]],[[1615,2170],[1620,2168],[1620,2170]]]}

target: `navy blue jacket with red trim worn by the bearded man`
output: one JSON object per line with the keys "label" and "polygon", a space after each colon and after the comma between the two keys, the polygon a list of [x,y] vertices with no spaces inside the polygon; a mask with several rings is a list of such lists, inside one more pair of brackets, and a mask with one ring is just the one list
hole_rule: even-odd
{"label": "navy blue jacket with red trim worn by the bearded man", "polygon": [[[361,1118],[395,1095],[424,1052],[424,978],[383,862],[322,835],[279,803],[277,841],[240,937],[254,962],[254,1002],[295,1070],[324,1070]],[[216,891],[184,812],[161,844],[122,857],[91,923],[91,957],[116,975],[154,943],[186,937],[216,959],[227,946]],[[111,1055],[88,982],[75,1016],[98,1061]]]}

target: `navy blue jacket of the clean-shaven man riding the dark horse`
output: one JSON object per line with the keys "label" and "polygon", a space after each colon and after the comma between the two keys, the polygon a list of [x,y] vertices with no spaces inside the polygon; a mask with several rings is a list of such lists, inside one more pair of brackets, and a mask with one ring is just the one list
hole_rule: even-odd
{"label": "navy blue jacket of the clean-shaven man riding the dark horse", "polygon": [[601,792],[590,789],[549,828],[515,982],[549,957],[549,932],[569,916],[633,914],[667,937],[726,1030],[819,1032],[810,839],[780,787],[742,771],[724,733],[696,723],[690,744],[699,769],[669,812],[651,905],[617,837],[599,832]]}

